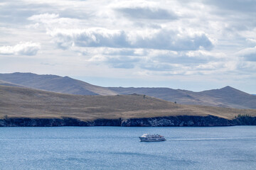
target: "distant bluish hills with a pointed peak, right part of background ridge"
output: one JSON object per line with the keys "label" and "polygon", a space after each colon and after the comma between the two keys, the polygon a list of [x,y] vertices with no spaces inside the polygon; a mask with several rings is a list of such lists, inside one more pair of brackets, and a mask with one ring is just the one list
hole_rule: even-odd
{"label": "distant bluish hills with a pointed peak, right part of background ridge", "polygon": [[222,89],[193,92],[169,88],[122,88],[111,87],[118,94],[146,94],[166,101],[186,105],[218,106],[223,108],[256,108],[256,96],[226,86]]}

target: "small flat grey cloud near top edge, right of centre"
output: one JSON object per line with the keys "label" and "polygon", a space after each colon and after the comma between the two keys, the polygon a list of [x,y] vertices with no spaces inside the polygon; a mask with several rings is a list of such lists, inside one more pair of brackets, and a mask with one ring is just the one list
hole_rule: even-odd
{"label": "small flat grey cloud near top edge, right of centre", "polygon": [[176,20],[178,18],[175,13],[162,8],[117,8],[116,11],[133,19]]}

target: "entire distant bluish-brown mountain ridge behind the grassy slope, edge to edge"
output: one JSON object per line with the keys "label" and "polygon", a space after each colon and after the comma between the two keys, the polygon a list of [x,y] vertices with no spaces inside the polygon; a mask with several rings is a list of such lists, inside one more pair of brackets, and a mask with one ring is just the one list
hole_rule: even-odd
{"label": "entire distant bluish-brown mountain ridge behind the grassy slope, edge to edge", "polygon": [[169,88],[124,88],[102,87],[88,84],[70,77],[38,75],[32,73],[0,74],[0,84],[26,86],[34,89],[54,91],[63,94],[102,95],[144,94],[166,101],[186,105],[218,106],[224,108],[256,108],[256,96],[231,86],[201,92]]}

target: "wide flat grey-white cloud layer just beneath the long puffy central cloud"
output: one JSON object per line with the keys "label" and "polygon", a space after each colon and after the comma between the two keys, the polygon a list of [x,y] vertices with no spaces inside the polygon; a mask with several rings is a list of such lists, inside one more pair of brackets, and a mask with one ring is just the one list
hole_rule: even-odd
{"label": "wide flat grey-white cloud layer just beneath the long puffy central cloud", "polygon": [[151,74],[161,72],[162,75],[208,74],[214,71],[232,70],[236,66],[225,59],[225,54],[206,50],[183,52],[90,47],[82,55],[85,55],[87,61],[91,63],[107,64],[112,68],[139,68],[150,71]]}

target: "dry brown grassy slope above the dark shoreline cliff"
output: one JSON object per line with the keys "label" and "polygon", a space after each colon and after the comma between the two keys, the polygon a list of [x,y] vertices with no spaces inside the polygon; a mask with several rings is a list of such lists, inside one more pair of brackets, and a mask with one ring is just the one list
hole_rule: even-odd
{"label": "dry brown grassy slope above the dark shoreline cliff", "polygon": [[234,118],[256,116],[256,110],[185,106],[142,95],[80,96],[49,91],[0,86],[0,118],[149,118],[167,115],[216,115]]}

